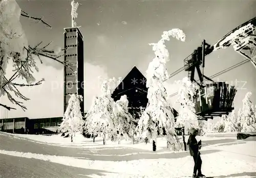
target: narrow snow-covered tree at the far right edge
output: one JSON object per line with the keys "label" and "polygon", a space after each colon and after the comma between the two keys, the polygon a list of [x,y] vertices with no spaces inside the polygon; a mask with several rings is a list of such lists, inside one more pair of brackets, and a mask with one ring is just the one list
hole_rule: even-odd
{"label": "narrow snow-covered tree at the far right edge", "polygon": [[256,131],[256,118],[253,110],[253,104],[250,101],[251,92],[248,92],[243,99],[243,107],[240,110],[241,131]]}

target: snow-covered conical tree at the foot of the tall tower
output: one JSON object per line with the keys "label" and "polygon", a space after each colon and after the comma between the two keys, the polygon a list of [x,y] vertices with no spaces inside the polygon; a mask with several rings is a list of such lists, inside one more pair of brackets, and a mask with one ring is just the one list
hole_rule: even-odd
{"label": "snow-covered conical tree at the foot of the tall tower", "polygon": [[82,132],[82,126],[84,124],[80,102],[82,102],[81,95],[70,95],[67,109],[59,126],[60,132],[68,133],[71,142],[73,142],[73,137],[75,137],[76,132]]}

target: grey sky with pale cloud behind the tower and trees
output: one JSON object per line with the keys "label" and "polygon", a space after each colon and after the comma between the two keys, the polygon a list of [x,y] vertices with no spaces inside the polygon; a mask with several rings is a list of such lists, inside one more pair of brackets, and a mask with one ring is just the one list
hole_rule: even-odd
{"label": "grey sky with pale cloud behind the tower and trees", "polygon": [[[134,65],[145,74],[148,63],[154,53],[148,43],[157,42],[163,31],[180,28],[186,34],[186,41],[171,39],[166,43],[170,53],[167,63],[169,73],[183,66],[183,59],[192,53],[205,39],[214,44],[221,37],[245,21],[256,16],[256,1],[78,1],[80,3],[75,19],[83,34],[84,68],[86,78],[85,107],[90,108],[93,96],[99,92],[98,76],[122,77]],[[66,0],[18,0],[20,8],[32,16],[44,16],[52,26],[47,29],[21,17],[20,21],[31,46],[53,40],[52,48],[64,46],[63,28],[71,26],[71,1]],[[219,50],[206,57],[204,74],[214,75],[244,58],[232,47]],[[63,115],[63,66],[51,59],[38,64],[38,80],[45,78],[44,84],[33,88],[22,88],[30,98],[25,104],[26,112],[17,110],[8,112],[8,117],[61,117]],[[11,66],[9,66],[11,71]],[[187,76],[187,72],[166,81],[169,94],[177,92],[173,86],[175,80]],[[242,106],[242,99],[248,91],[251,100],[256,102],[256,70],[248,62],[217,78],[228,83],[237,83],[239,91],[234,101],[237,110]],[[177,96],[176,96],[177,97]],[[176,97],[173,97],[175,102]],[[9,102],[2,97],[2,102]],[[3,117],[3,109],[1,109]]]}

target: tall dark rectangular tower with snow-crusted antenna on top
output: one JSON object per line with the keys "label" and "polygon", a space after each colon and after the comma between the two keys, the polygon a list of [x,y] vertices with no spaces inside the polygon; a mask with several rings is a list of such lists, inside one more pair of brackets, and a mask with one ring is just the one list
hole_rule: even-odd
{"label": "tall dark rectangular tower with snow-crusted antenna on top", "polygon": [[[78,3],[71,2],[72,10],[72,26],[65,28],[64,32],[64,46],[67,54],[64,60],[69,67],[64,67],[64,112],[68,106],[71,94],[78,94],[83,97],[83,36],[74,21],[77,18]],[[73,70],[71,70],[71,69]],[[81,113],[84,115],[84,102],[80,103]]]}

